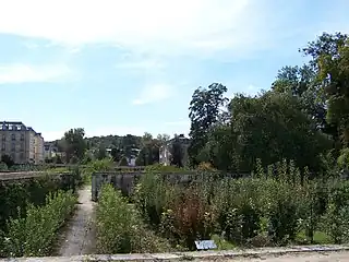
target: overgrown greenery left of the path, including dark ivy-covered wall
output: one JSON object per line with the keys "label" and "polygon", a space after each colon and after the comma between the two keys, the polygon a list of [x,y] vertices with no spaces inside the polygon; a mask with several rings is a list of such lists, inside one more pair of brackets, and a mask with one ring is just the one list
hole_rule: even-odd
{"label": "overgrown greenery left of the path, including dark ivy-covered wall", "polygon": [[2,181],[0,255],[48,254],[57,229],[75,203],[74,190],[71,175]]}

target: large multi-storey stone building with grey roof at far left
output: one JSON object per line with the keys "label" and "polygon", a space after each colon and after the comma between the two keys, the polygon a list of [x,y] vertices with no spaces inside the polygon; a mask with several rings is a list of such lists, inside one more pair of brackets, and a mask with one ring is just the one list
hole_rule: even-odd
{"label": "large multi-storey stone building with grey roof at far left", "polygon": [[0,156],[9,155],[15,164],[44,162],[41,133],[23,122],[0,122]]}

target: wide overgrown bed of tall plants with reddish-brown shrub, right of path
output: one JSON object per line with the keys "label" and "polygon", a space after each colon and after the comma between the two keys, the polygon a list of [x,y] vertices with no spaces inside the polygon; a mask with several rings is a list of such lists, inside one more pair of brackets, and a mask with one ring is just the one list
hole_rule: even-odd
{"label": "wide overgrown bed of tall plants with reddish-brown shrub, right of path", "polygon": [[[145,175],[133,195],[145,222],[172,246],[193,250],[194,240],[221,236],[238,246],[284,246],[316,242],[322,233],[330,242],[348,241],[349,183],[339,178],[309,179],[286,160],[253,177],[172,184],[161,175]],[[299,236],[305,236],[300,239]]]}

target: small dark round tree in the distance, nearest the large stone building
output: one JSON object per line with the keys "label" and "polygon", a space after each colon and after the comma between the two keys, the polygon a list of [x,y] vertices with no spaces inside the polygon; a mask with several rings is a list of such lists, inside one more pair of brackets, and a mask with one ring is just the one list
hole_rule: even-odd
{"label": "small dark round tree in the distance, nearest the large stone building", "polygon": [[68,162],[83,159],[87,147],[84,136],[85,131],[82,128],[71,129],[64,133],[62,141]]}

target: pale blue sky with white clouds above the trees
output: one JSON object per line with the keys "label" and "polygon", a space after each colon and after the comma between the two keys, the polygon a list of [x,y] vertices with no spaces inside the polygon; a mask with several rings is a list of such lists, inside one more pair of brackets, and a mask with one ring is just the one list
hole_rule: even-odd
{"label": "pale blue sky with white clouds above the trees", "polygon": [[195,88],[268,90],[323,32],[349,33],[347,0],[11,0],[0,3],[0,120],[46,141],[188,134]]}

